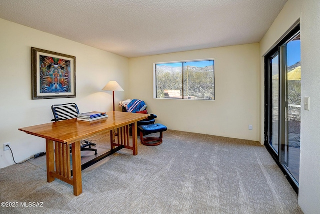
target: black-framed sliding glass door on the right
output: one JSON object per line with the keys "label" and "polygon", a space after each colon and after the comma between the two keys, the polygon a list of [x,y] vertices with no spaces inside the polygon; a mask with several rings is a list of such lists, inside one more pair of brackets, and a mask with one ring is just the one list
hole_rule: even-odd
{"label": "black-framed sliding glass door on the right", "polygon": [[264,68],[264,145],[297,191],[301,108],[299,26],[265,56]]}

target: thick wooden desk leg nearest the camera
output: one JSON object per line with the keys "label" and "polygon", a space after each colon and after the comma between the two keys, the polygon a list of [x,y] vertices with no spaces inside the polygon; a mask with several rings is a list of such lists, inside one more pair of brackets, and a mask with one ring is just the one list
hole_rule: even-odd
{"label": "thick wooden desk leg nearest the camera", "polygon": [[80,154],[80,142],[74,142],[71,144],[72,153],[72,175],[73,175],[73,194],[78,196],[82,193],[82,181],[81,181],[81,154]]}

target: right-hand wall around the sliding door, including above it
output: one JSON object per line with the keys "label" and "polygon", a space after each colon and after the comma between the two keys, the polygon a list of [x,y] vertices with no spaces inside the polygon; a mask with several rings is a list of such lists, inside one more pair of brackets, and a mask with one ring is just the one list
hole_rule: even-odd
{"label": "right-hand wall around the sliding door, including above it", "polygon": [[[288,0],[260,42],[261,127],[263,128],[263,55],[300,20],[301,106],[310,97],[310,110],[301,109],[298,204],[305,214],[320,213],[320,2]],[[261,139],[263,129],[261,129]]]}

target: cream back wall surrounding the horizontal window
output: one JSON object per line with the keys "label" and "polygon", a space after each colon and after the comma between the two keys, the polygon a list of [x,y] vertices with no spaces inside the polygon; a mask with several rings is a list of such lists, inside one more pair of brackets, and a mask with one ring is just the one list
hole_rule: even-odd
{"label": "cream back wall surrounding the horizontal window", "polygon": [[[209,58],[215,64],[214,101],[153,99],[153,63]],[[131,58],[129,71],[127,98],[143,99],[169,129],[259,140],[257,43]]]}

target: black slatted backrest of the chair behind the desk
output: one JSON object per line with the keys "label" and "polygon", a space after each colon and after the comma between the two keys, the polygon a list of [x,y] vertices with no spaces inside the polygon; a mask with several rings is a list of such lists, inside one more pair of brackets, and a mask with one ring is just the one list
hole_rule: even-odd
{"label": "black slatted backrest of the chair behind the desk", "polygon": [[51,110],[54,116],[51,121],[76,118],[79,114],[79,109],[75,103],[55,104],[51,106]]}

